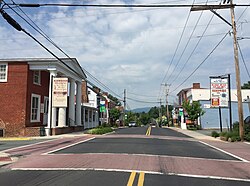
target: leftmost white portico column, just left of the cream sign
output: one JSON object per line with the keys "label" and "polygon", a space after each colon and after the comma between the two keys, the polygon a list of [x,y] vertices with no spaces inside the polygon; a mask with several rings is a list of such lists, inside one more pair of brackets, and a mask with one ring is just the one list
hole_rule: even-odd
{"label": "leftmost white portico column, just left of the cream sign", "polygon": [[49,70],[50,79],[49,79],[49,108],[48,108],[48,125],[46,127],[46,135],[49,136],[51,128],[56,126],[56,108],[52,108],[52,86],[53,86],[53,77],[56,76],[56,69]]}

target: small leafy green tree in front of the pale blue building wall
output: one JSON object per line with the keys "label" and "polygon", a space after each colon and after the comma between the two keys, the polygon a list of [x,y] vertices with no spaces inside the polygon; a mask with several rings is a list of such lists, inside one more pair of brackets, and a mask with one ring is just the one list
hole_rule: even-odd
{"label": "small leafy green tree in front of the pale blue building wall", "polygon": [[202,110],[201,104],[198,101],[193,101],[190,103],[190,101],[183,101],[182,103],[183,108],[188,114],[188,118],[195,122],[198,117],[202,116],[205,114],[205,111]]}

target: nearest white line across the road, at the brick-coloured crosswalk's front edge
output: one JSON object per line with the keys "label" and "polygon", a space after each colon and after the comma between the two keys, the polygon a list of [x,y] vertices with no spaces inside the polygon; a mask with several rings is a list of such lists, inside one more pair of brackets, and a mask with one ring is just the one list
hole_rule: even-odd
{"label": "nearest white line across the road, at the brick-coloured crosswalk's front edge", "polygon": [[178,174],[178,173],[162,173],[154,171],[143,171],[143,170],[126,170],[126,169],[101,169],[101,168],[12,168],[11,170],[22,170],[22,171],[107,171],[107,172],[144,172],[145,174],[152,175],[168,175],[168,176],[181,176],[191,178],[203,178],[203,179],[215,179],[215,180],[229,180],[229,181],[243,181],[250,182],[250,179],[244,178],[232,178],[232,177],[221,177],[221,176],[209,176],[209,175],[195,175],[195,174]]}

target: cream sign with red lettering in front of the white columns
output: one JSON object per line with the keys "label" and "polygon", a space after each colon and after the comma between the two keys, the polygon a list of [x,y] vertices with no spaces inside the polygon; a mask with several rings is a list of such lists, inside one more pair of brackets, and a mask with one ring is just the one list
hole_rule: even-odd
{"label": "cream sign with red lettering in front of the white columns", "polygon": [[52,107],[67,107],[68,78],[53,78]]}

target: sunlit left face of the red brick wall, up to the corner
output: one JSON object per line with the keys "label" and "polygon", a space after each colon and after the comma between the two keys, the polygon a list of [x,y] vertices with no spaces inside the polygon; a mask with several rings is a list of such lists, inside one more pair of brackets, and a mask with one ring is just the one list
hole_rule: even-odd
{"label": "sunlit left face of the red brick wall, up to the corner", "polygon": [[9,63],[6,83],[0,83],[0,128],[5,136],[23,135],[26,119],[26,63]]}

